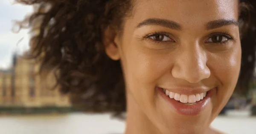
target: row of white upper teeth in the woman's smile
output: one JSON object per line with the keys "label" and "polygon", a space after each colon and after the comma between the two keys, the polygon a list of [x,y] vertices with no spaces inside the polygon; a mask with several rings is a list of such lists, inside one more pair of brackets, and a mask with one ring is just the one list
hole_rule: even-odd
{"label": "row of white upper teeth in the woman's smile", "polygon": [[197,101],[203,100],[207,95],[207,92],[203,92],[203,93],[195,94],[195,95],[181,95],[178,93],[170,92],[166,89],[163,89],[163,92],[166,95],[168,95],[169,98],[175,99],[177,101],[180,101],[181,103],[185,103],[188,105],[196,104]]}

